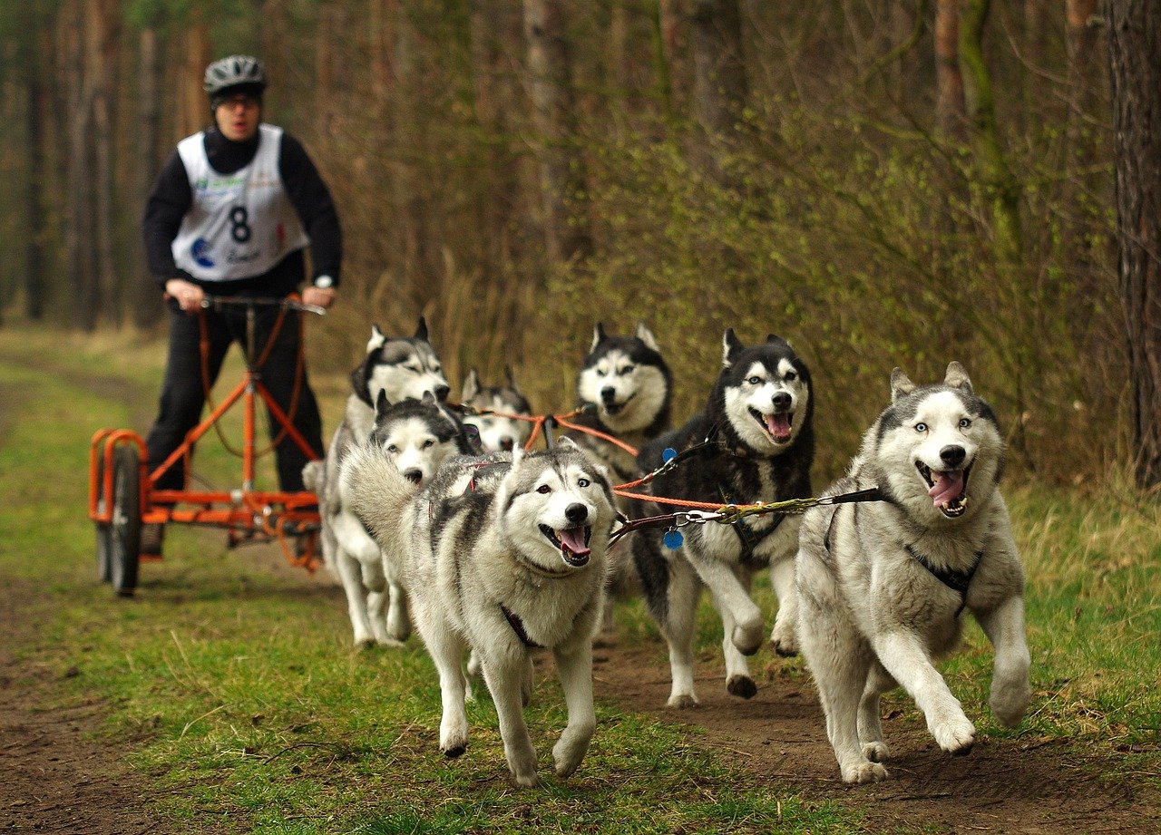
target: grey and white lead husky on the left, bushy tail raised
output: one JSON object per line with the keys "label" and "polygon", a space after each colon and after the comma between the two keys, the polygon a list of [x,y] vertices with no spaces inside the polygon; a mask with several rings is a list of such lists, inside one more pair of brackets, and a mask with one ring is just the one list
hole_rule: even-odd
{"label": "grey and white lead husky on the left, bushy tail raised", "polygon": [[483,665],[518,785],[536,785],[536,753],[524,721],[534,647],[556,660],[568,726],[553,748],[571,775],[596,728],[592,633],[600,616],[614,510],[606,471],[574,444],[511,455],[456,457],[421,491],[380,448],[354,450],[342,496],[384,560],[401,566],[412,617],[439,670],[440,749],[468,745],[464,653]]}

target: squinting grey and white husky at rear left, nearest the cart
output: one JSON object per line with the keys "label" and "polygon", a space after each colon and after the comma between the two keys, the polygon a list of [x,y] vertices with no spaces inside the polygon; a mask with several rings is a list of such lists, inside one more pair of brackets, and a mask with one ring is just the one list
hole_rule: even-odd
{"label": "squinting grey and white husky at rear left, nearest the cart", "polygon": [[339,501],[339,466],[347,450],[365,443],[375,429],[375,406],[381,394],[391,404],[409,398],[420,400],[427,392],[437,400],[447,398],[450,387],[444,377],[439,355],[427,341],[427,322],[423,317],[411,337],[387,336],[377,325],[372,326],[367,354],[351,372],[351,394],[326,457],[322,462],[311,462],[303,469],[308,489],[313,491],[319,500],[323,561],[342,582],[347,593],[355,644],[398,644],[406,639],[410,626],[399,588],[394,588],[390,594],[391,598],[401,601],[398,609],[392,609],[395,615],[390,618],[390,625],[384,609],[387,603],[378,597],[372,598],[373,609],[378,613],[375,617],[368,615],[360,568],[363,562],[355,554],[366,552],[372,543]]}

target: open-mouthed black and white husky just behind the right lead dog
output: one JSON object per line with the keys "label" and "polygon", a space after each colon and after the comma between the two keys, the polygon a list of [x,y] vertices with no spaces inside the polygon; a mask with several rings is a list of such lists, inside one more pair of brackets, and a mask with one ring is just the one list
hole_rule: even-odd
{"label": "open-mouthed black and white husky just behind the right lead dog", "polygon": [[[682,452],[711,441],[700,446],[699,455],[655,479],[651,493],[714,504],[809,496],[814,407],[806,364],[778,336],[747,348],[733,328],[723,337],[722,362],[705,411],[641,450],[639,462],[648,472],[661,466],[665,448]],[[698,703],[693,634],[702,586],[722,617],[730,694],[750,698],[757,691],[744,658],[758,651],[763,637],[762,612],[750,597],[750,582],[767,565],[779,601],[774,646],[784,654],[796,652],[793,557],[798,530],[798,517],[778,515],[753,516],[733,525],[691,525],[683,529],[684,543],[672,551],[663,546],[659,530],[634,535],[634,564],[649,609],[669,642],[671,707]]]}

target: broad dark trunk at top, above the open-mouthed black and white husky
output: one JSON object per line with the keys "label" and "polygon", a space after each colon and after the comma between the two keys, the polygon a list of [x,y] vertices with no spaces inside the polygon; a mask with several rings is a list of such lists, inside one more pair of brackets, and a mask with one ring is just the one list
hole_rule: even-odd
{"label": "broad dark trunk at top, above the open-mouthed black and white husky", "polygon": [[735,131],[745,104],[742,14],[737,0],[694,0],[693,116],[698,167],[722,179],[720,143]]}

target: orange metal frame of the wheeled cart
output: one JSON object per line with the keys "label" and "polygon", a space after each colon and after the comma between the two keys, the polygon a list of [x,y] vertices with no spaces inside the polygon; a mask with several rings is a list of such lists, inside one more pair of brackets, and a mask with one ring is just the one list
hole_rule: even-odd
{"label": "orange metal frame of the wheeled cart", "polygon": [[[254,406],[261,399],[286,431],[308,458],[317,460],[318,452],[290,423],[290,419],[274,401],[258,378],[258,371],[250,366],[240,383],[210,413],[205,420],[189,430],[186,440],[173,453],[150,472],[145,442],[131,429],[99,429],[89,441],[88,451],[88,517],[93,522],[111,523],[113,506],[107,501],[100,507],[100,498],[113,495],[113,456],[120,444],[136,444],[140,460],[140,514],[142,523],[179,522],[185,524],[203,524],[224,527],[229,531],[229,544],[237,545],[246,540],[274,540],[282,546],[287,560],[313,572],[319,564],[316,554],[319,523],[318,498],[309,492],[296,493],[254,489]],[[194,444],[210,427],[241,400],[243,412],[243,486],[231,491],[190,491],[157,489],[158,479],[178,460],[186,462],[186,480],[189,479],[189,457]],[[100,475],[100,478],[99,478]],[[178,504],[190,506],[179,508]],[[305,550],[301,556],[295,553],[294,544],[283,530],[284,523],[311,525],[313,529],[304,533]],[[144,558],[143,558],[144,559]]]}

